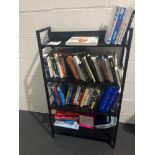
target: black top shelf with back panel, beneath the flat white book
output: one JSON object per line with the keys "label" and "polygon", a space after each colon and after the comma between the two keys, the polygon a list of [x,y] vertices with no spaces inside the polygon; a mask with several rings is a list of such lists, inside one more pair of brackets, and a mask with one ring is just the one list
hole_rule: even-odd
{"label": "black top shelf with back panel, beneath the flat white book", "polygon": [[[126,47],[125,39],[123,40],[121,45],[113,45],[113,44],[106,44],[104,42],[106,31],[70,31],[70,32],[48,32],[49,42],[51,41],[61,41],[59,45],[47,45],[49,42],[45,42],[41,44],[42,49],[45,47]],[[73,36],[99,36],[99,41],[97,46],[90,46],[90,45],[65,45],[65,42],[69,40]]]}

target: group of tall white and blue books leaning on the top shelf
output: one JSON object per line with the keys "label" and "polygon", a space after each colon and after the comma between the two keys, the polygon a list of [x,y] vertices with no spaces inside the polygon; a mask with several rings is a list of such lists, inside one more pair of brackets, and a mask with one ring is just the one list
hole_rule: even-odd
{"label": "group of tall white and blue books leaning on the top shelf", "polygon": [[105,43],[121,45],[128,25],[131,24],[134,17],[132,7],[115,7],[113,10],[113,20],[108,27],[105,36]]}

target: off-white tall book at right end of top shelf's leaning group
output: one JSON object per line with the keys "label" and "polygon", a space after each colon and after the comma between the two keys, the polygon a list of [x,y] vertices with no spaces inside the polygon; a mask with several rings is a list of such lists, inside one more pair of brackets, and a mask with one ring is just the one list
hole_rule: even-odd
{"label": "off-white tall book at right end of top shelf's leaning group", "polygon": [[132,7],[129,7],[126,11],[126,16],[123,20],[122,28],[121,28],[121,31],[119,33],[118,39],[117,39],[117,44],[119,44],[119,45],[121,45],[123,38],[124,38],[124,35],[125,35],[125,32],[126,32],[128,26],[130,26],[130,23],[132,22],[132,19],[134,17],[133,11],[134,10]]}

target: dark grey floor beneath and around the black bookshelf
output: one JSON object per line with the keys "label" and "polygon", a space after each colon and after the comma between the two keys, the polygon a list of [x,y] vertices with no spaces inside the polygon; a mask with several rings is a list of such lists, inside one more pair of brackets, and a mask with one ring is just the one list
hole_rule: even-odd
{"label": "dark grey floor beneath and around the black bookshelf", "polygon": [[120,123],[115,149],[107,143],[57,134],[51,138],[46,114],[19,112],[20,155],[134,155],[134,125]]}

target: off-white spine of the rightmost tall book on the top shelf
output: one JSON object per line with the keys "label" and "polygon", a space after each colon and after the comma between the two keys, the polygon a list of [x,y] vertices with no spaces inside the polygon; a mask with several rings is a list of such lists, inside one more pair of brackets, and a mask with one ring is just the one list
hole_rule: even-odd
{"label": "off-white spine of the rightmost tall book on the top shelf", "polygon": [[122,33],[120,34],[120,37],[119,37],[119,41],[118,41],[119,45],[121,45],[127,29],[130,28],[130,25],[132,23],[133,17],[134,17],[133,8],[130,8],[130,10],[128,11],[128,15],[126,17],[126,20],[125,20],[125,24],[124,24]]}

